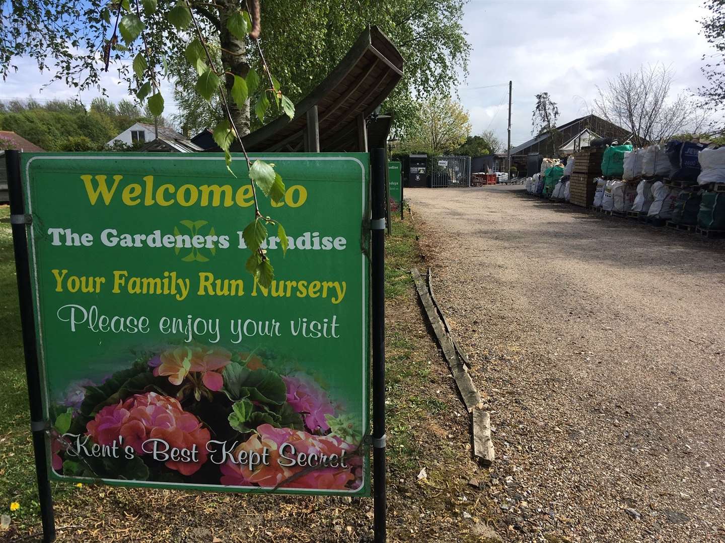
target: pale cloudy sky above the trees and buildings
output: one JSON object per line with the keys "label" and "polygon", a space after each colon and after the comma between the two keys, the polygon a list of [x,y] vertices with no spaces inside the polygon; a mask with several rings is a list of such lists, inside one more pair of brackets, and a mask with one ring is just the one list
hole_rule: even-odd
{"label": "pale cloudy sky above the trees and buildings", "polygon": [[[597,85],[642,64],[662,62],[675,72],[673,93],[697,89],[703,53],[711,50],[698,19],[708,12],[700,0],[472,0],[463,28],[471,43],[465,81],[452,89],[468,110],[473,133],[492,129],[506,140],[508,81],[513,81],[511,143],[531,138],[531,111],[537,93],[558,104],[560,122],[589,112]],[[35,63],[0,82],[0,99],[75,98],[75,89],[55,82]],[[128,98],[125,83],[110,70],[104,76],[109,98]],[[497,85],[497,86],[491,86]],[[171,85],[163,85],[165,116],[175,106]],[[481,88],[486,87],[486,88]],[[90,104],[97,90],[81,94]]]}

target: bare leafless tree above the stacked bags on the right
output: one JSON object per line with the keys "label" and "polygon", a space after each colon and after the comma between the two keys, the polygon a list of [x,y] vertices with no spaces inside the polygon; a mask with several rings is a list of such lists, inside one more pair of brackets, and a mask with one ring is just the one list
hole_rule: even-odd
{"label": "bare leafless tree above the stacked bags on the right", "polygon": [[[697,132],[705,120],[686,94],[670,96],[674,72],[664,64],[621,73],[599,88],[595,113],[629,130],[637,147],[671,138],[678,132]],[[693,125],[700,125],[694,127]]]}

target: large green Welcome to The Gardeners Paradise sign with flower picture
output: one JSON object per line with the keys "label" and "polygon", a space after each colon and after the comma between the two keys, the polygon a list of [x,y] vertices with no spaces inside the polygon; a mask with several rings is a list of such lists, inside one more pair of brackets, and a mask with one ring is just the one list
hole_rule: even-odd
{"label": "large green Welcome to The Gardeners Paradise sign with flower picture", "polygon": [[241,156],[22,154],[53,479],[369,493],[368,155],[258,158],[268,288]]}

